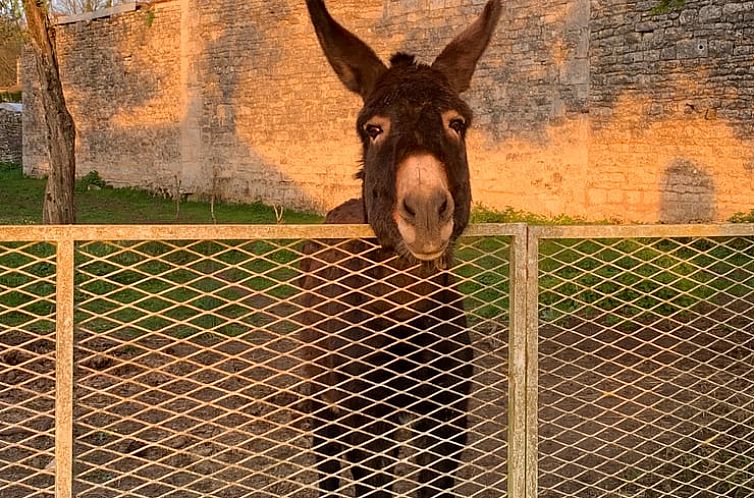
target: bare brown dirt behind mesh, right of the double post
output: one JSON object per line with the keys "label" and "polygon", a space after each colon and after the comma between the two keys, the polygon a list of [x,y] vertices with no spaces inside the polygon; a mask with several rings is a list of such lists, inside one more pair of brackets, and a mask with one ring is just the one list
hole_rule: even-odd
{"label": "bare brown dirt behind mesh, right of the double post", "polygon": [[541,327],[539,496],[754,496],[751,310]]}

